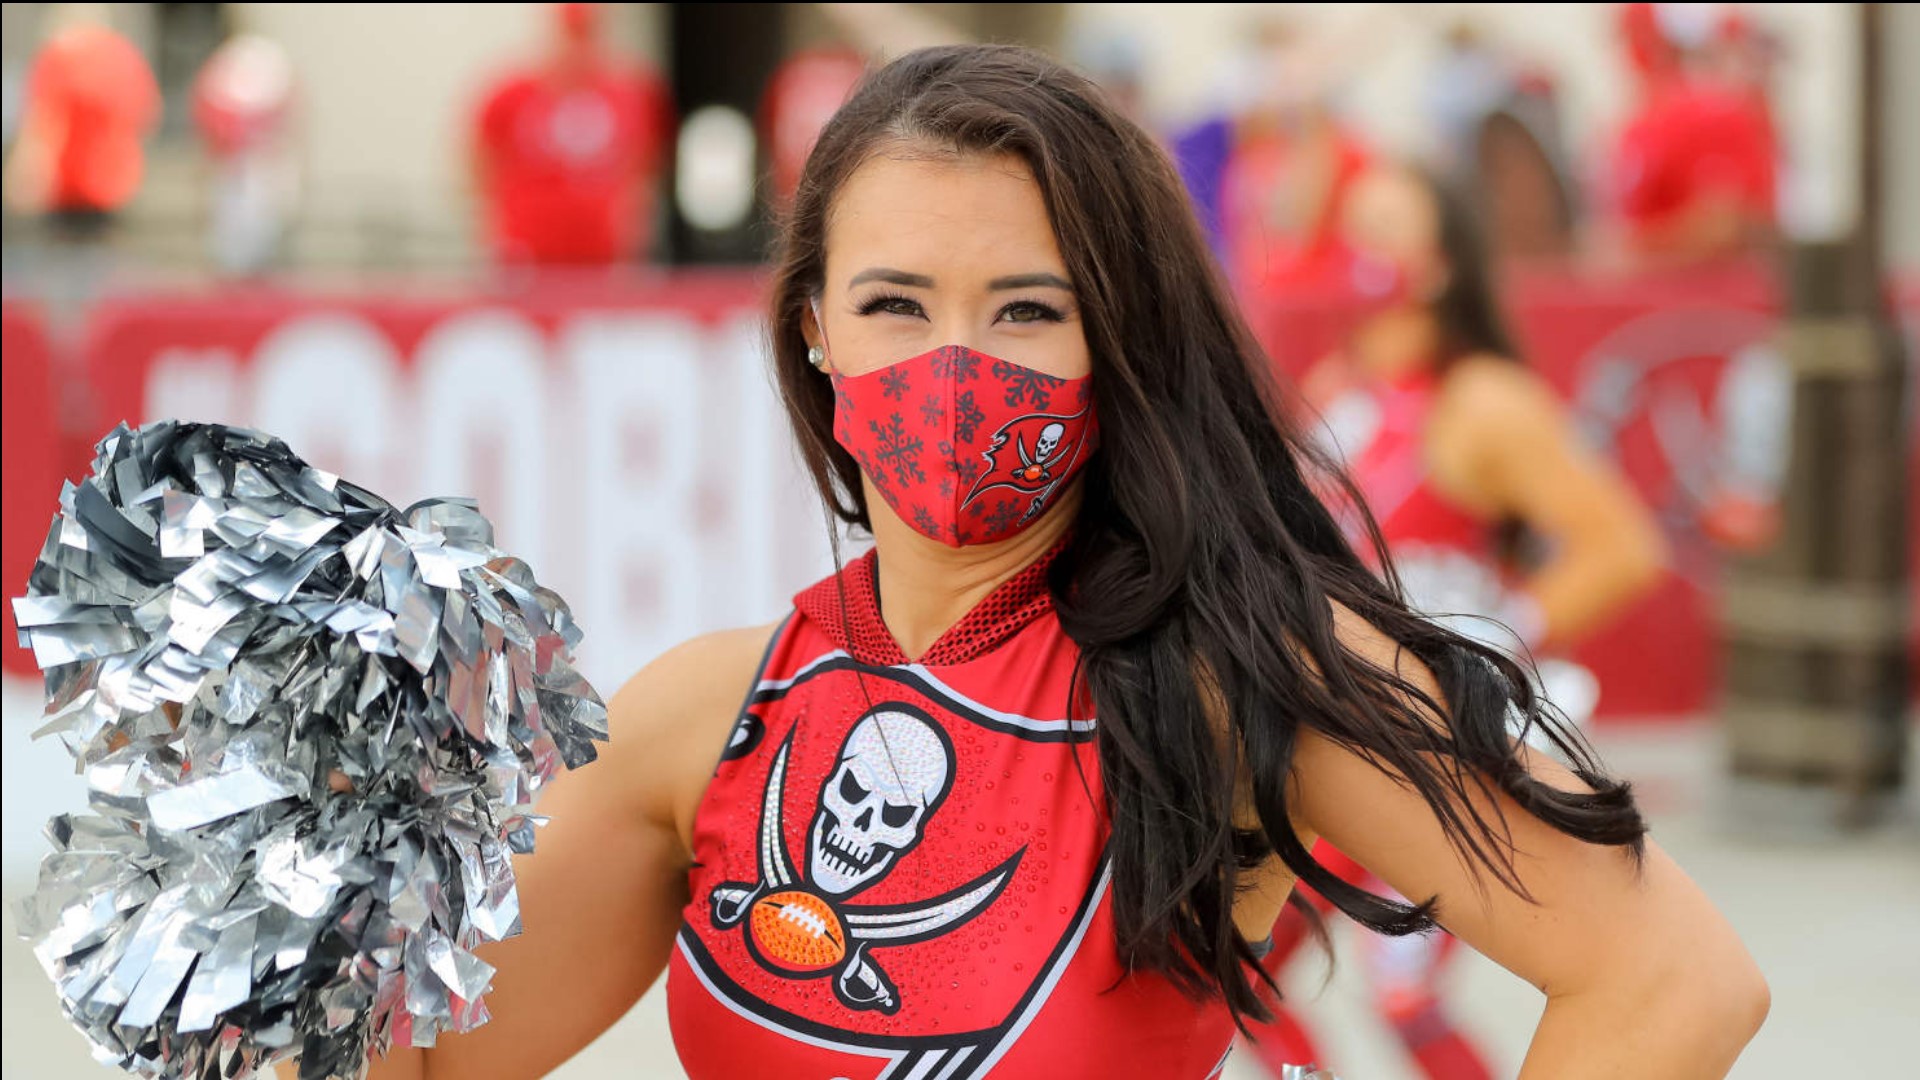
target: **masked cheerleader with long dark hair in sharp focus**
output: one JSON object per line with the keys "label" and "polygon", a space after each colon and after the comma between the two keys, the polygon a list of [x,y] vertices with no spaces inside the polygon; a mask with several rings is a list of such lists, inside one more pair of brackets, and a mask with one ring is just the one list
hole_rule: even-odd
{"label": "masked cheerleader with long dark hair in sharp focus", "polygon": [[1208,1076],[1296,876],[1542,986],[1528,1076],[1728,1068],[1766,1007],[1740,942],[1624,786],[1507,738],[1521,671],[1342,540],[1173,169],[1087,81],[877,71],[808,160],[772,342],[876,553],[620,690],[495,1020],[374,1076],[538,1076],[666,969],[697,1078]]}

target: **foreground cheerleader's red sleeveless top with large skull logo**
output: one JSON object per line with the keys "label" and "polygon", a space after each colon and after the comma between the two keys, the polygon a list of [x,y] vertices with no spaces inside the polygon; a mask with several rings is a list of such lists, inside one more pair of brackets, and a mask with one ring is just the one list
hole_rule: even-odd
{"label": "foreground cheerleader's red sleeveless top with large skull logo", "polygon": [[693,821],[693,1080],[1208,1078],[1233,1024],[1114,944],[1094,721],[1043,557],[908,661],[876,555],[795,598]]}

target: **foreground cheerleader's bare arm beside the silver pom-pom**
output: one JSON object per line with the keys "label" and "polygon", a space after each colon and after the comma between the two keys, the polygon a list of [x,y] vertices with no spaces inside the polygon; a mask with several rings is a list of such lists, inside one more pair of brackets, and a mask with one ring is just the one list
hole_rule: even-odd
{"label": "foreground cheerleader's bare arm beside the silver pom-pom", "polygon": [[687,642],[614,694],[601,759],[553,782],[538,805],[551,824],[515,857],[526,932],[478,949],[497,969],[493,1019],[434,1049],[396,1047],[369,1080],[545,1076],[653,986],[687,903],[685,826],[768,630]]}

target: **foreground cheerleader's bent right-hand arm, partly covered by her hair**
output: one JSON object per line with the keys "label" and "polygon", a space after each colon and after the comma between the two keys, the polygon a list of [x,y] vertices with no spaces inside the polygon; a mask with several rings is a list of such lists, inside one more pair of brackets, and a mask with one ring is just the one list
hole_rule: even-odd
{"label": "foreground cheerleader's bent right-hand arm, partly covered by her hair", "polygon": [[[1350,611],[1338,621],[1352,651],[1444,700],[1392,640]],[[1519,753],[1540,780],[1584,790],[1551,759]],[[1302,732],[1290,798],[1306,828],[1402,896],[1438,897],[1448,932],[1548,995],[1521,1080],[1724,1076],[1766,1017],[1766,982],[1734,928],[1653,840],[1636,869],[1628,851],[1565,836],[1498,790],[1476,796],[1482,817],[1511,828],[1530,903],[1467,865],[1404,778],[1319,732]]]}

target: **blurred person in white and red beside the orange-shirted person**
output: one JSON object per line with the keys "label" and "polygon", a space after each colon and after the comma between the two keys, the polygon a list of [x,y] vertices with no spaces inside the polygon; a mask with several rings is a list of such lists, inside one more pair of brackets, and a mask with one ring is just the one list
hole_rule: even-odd
{"label": "blurred person in white and red beside the orange-shirted person", "polygon": [[227,275],[265,273],[300,200],[294,63],[280,42],[234,33],[202,65],[192,96],[194,127],[213,173],[213,265]]}

